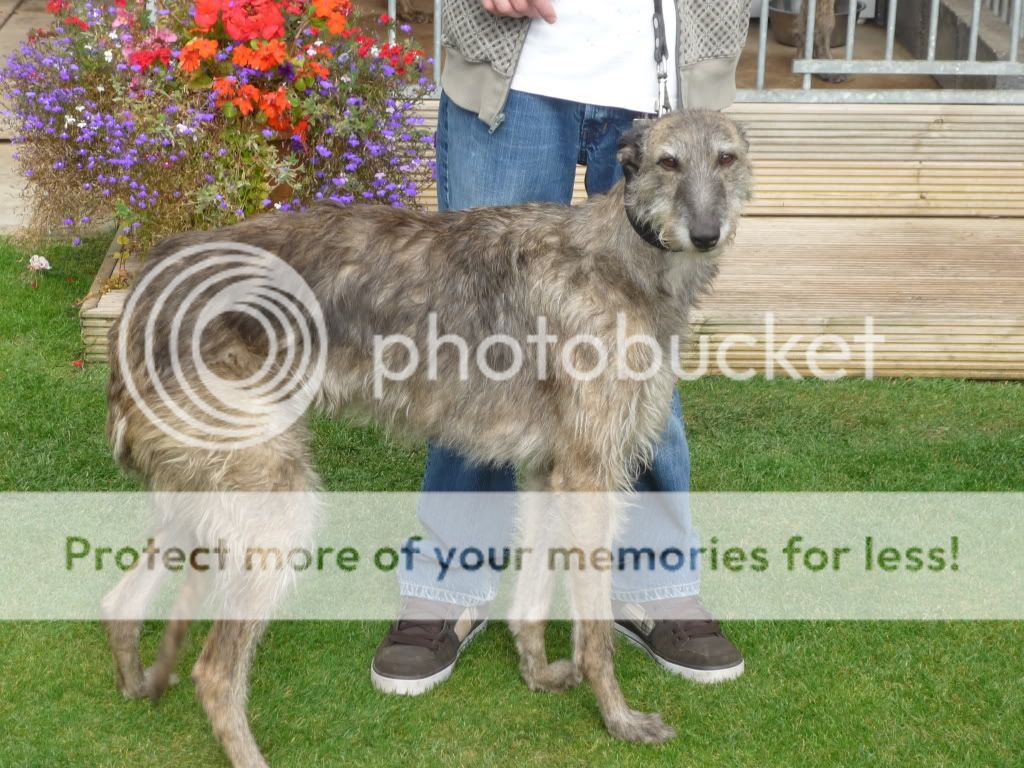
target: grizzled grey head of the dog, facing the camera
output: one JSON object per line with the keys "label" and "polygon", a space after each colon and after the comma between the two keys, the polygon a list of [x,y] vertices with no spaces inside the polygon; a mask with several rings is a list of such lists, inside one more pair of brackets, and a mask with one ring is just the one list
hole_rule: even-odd
{"label": "grizzled grey head of the dog, facing the camera", "polygon": [[618,142],[626,212],[637,233],[669,251],[727,243],[751,199],[748,148],[740,127],[717,112],[639,122]]}

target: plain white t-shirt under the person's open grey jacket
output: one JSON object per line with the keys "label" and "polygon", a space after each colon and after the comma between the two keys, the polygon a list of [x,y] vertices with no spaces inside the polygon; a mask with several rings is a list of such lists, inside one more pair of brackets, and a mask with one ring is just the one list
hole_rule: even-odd
{"label": "plain white t-shirt under the person's open grey jacket", "polygon": [[[554,6],[554,24],[530,22],[512,87],[581,103],[653,112],[653,0],[555,0]],[[676,4],[665,0],[663,6],[669,95],[678,106]]]}

